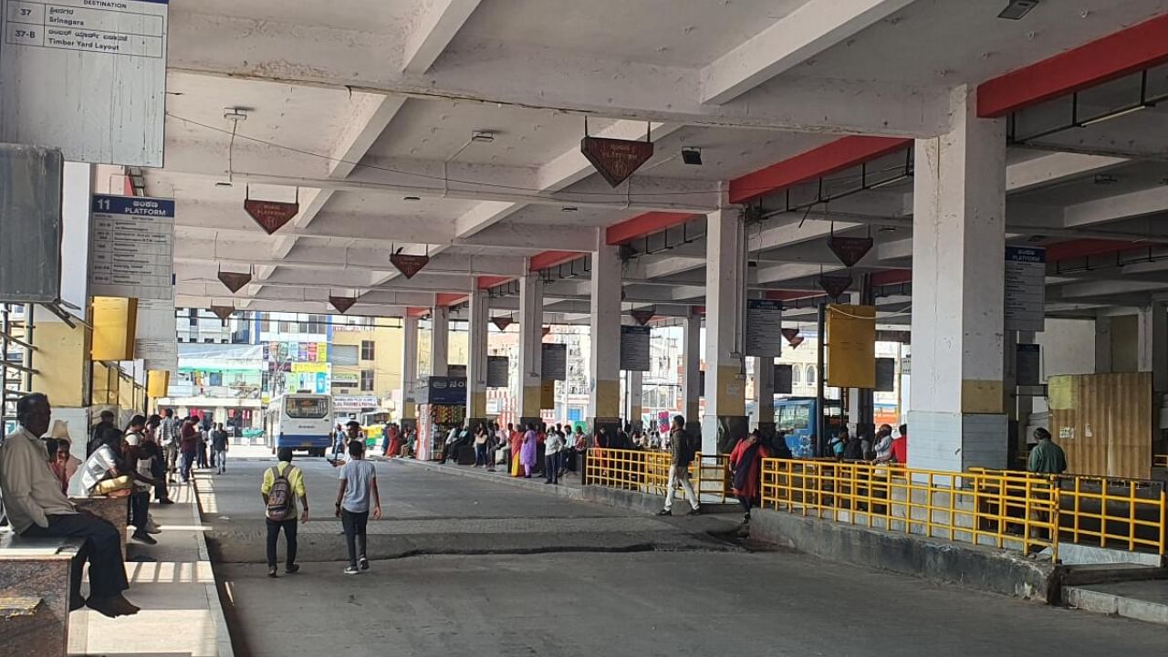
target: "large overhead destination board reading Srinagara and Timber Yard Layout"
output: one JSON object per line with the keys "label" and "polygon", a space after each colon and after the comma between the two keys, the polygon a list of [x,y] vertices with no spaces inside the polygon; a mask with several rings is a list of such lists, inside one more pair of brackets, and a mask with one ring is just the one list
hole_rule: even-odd
{"label": "large overhead destination board reading Srinagara and Timber Yard Layout", "polygon": [[0,6],[0,140],[70,161],[162,166],[168,0]]}

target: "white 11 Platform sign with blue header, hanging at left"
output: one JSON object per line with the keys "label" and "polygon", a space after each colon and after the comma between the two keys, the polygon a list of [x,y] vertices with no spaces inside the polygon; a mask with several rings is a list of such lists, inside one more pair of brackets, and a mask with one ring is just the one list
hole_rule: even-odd
{"label": "white 11 Platform sign with blue header, hanging at left", "polygon": [[93,195],[90,295],[174,299],[174,200]]}

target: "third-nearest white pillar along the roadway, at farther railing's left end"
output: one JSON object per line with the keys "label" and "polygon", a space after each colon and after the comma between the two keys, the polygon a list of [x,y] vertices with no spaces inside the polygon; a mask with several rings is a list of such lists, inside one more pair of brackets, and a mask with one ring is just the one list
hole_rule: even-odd
{"label": "third-nearest white pillar along the roadway, at farther railing's left end", "polygon": [[590,362],[592,390],[589,419],[593,430],[610,434],[620,427],[620,257],[617,247],[602,244],[592,254],[592,317]]}

